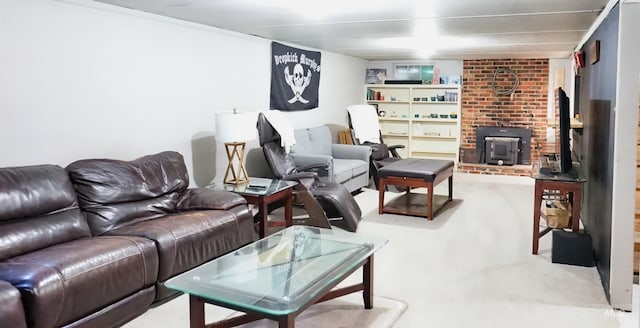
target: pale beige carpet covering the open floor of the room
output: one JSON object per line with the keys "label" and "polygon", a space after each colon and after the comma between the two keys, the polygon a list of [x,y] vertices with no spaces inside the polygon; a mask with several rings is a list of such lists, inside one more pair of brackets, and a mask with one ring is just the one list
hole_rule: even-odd
{"label": "pale beige carpet covering the open floor of the room", "polygon": [[[443,194],[446,183],[436,189]],[[531,254],[532,179],[456,173],[453,196],[433,221],[378,215],[376,191],[356,196],[364,214],[357,233],[389,239],[375,255],[374,293],[407,304],[404,311],[394,311],[402,313],[394,328],[638,327],[630,313],[611,309],[595,268],[551,263],[550,235],[540,240],[540,254]],[[354,283],[358,272],[345,283]],[[366,312],[359,295],[347,297],[355,297],[349,301],[353,316]],[[382,299],[376,298],[375,310],[368,313],[377,317],[373,324],[366,318],[358,324],[333,321],[337,312],[328,309],[321,315],[328,319],[305,324],[389,327],[394,319],[376,312],[385,308]],[[165,304],[126,327],[187,327],[187,309],[186,302]],[[214,312],[210,318],[230,314],[213,306],[207,311]],[[637,318],[637,312],[633,315]],[[155,319],[148,321],[149,316]]]}

